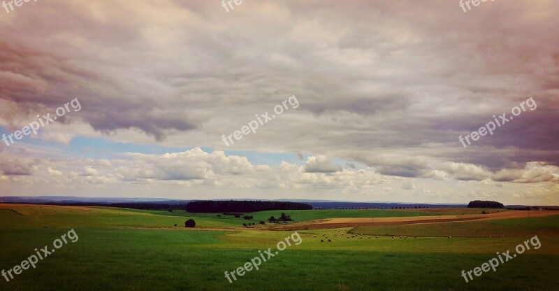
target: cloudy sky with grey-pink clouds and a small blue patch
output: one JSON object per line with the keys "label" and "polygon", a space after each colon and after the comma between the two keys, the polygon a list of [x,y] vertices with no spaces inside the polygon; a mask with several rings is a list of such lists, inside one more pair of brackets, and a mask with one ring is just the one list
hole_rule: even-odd
{"label": "cloudy sky with grey-pink clouds and a small blue patch", "polygon": [[557,27],[555,0],[6,6],[0,196],[559,205]]}

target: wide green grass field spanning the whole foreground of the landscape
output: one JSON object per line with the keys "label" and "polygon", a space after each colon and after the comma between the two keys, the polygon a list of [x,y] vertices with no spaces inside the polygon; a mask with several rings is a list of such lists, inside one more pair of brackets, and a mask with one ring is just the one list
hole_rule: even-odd
{"label": "wide green grass field spanning the whole foreground of the landscape", "polygon": [[[184,222],[184,217],[181,213],[114,208],[1,208],[0,269],[20,264],[35,248],[52,248],[52,241],[69,229],[75,229],[79,239],[10,282],[0,278],[0,290],[556,290],[559,285],[558,216],[491,221],[496,230],[511,235],[491,239],[432,237],[435,233],[429,228],[419,228],[417,232],[428,237],[417,239],[368,239],[359,228],[301,230],[300,245],[293,244],[263,262],[258,271],[229,283],[224,271],[242,266],[258,256],[259,250],[274,250],[277,241],[292,232],[121,229],[114,227],[168,225]],[[322,215],[343,218],[354,212],[366,211],[324,211]],[[201,214],[194,219],[199,224],[221,224],[219,227],[226,227],[229,220],[236,227],[242,221],[212,216]],[[47,222],[48,228],[43,228]],[[485,222],[458,224],[468,223],[474,225],[462,229],[488,227]],[[427,225],[414,227],[418,226]],[[541,248],[528,250],[499,266],[497,272],[465,283],[460,276],[463,269],[481,266],[497,251],[512,250],[532,236],[526,227],[538,235]],[[347,239],[346,232],[360,230],[363,239]],[[325,232],[331,243],[320,242]]]}

